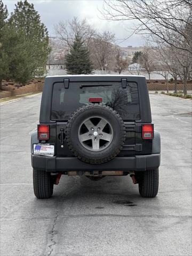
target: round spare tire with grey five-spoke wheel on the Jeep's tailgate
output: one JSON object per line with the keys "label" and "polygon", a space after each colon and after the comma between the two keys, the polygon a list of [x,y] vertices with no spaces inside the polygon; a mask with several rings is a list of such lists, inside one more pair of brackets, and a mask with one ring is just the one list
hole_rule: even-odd
{"label": "round spare tire with grey five-spoke wheel on the Jeep's tailgate", "polygon": [[69,149],[85,163],[106,163],[118,155],[125,142],[121,116],[103,104],[83,106],[68,120],[66,140]]}

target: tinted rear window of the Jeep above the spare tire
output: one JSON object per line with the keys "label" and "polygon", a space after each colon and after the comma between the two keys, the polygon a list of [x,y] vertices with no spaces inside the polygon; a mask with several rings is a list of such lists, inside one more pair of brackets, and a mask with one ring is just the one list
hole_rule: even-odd
{"label": "tinted rear window of the Jeep above the spare tire", "polygon": [[69,83],[65,89],[63,83],[53,85],[51,119],[66,121],[79,107],[89,103],[90,98],[102,98],[102,103],[115,109],[124,121],[139,120],[139,95],[137,83],[127,83],[126,89],[121,83]]}

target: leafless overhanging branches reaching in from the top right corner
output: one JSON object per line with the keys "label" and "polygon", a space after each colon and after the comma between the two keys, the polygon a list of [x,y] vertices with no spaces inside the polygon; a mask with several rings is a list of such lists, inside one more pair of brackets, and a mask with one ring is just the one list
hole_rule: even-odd
{"label": "leafless overhanging branches reaching in from the top right corner", "polygon": [[105,0],[101,12],[108,20],[136,21],[133,33],[153,35],[192,58],[191,0]]}

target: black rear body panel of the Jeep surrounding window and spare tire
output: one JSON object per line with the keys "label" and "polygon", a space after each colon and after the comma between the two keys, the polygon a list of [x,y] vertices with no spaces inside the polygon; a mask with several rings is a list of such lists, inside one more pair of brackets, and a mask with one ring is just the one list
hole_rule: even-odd
{"label": "black rear body panel of the Jeep surrounding window and spare tire", "polygon": [[[74,157],[69,150],[65,140],[65,130],[67,122],[56,122],[51,120],[51,102],[53,94],[53,85],[63,83],[66,90],[77,82],[90,83],[110,83],[119,82],[122,86],[126,83],[134,82],[138,85],[140,120],[124,122],[126,129],[125,145],[118,157],[131,157],[135,155],[148,155],[152,153],[153,140],[143,140],[141,136],[142,124],[151,123],[151,110],[149,94],[145,77],[142,76],[55,76],[46,77],[43,88],[41,111],[39,117],[40,124],[50,125],[50,140],[46,143],[54,143],[55,155],[57,157]],[[42,142],[42,141],[39,141]],[[111,161],[109,164],[112,163]]]}

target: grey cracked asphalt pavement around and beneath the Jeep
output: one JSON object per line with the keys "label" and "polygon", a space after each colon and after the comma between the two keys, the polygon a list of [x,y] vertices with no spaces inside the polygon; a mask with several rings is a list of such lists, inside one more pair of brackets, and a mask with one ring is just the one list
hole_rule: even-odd
{"label": "grey cracked asphalt pavement around and beneath the Jeep", "polygon": [[30,134],[41,94],[1,106],[1,256],[191,255],[191,101],[150,94],[162,161],[156,198],[126,177],[63,175],[33,192]]}

